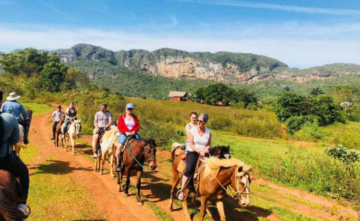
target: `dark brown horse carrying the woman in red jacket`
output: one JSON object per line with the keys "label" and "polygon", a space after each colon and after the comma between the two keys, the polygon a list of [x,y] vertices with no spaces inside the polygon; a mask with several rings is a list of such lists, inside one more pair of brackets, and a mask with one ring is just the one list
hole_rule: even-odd
{"label": "dark brown horse carrying the woman in red jacket", "polygon": [[[113,155],[116,151],[113,152]],[[124,189],[125,196],[129,195],[129,184],[130,184],[130,171],[136,170],[136,200],[138,206],[143,205],[140,199],[140,187],[141,187],[141,176],[143,175],[143,164],[147,162],[150,169],[154,171],[156,169],[156,144],[155,140],[136,140],[133,139],[125,144],[125,151],[123,152],[123,165],[121,171],[116,171],[118,175],[118,191],[122,191],[123,174],[126,174],[126,185]],[[120,175],[119,175],[120,173]]]}

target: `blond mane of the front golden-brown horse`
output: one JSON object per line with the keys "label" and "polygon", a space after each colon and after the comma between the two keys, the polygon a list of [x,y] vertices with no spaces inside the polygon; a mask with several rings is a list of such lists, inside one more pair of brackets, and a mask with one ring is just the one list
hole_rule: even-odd
{"label": "blond mane of the front golden-brown horse", "polygon": [[236,158],[230,159],[219,159],[217,157],[205,157],[204,158],[205,169],[204,169],[204,180],[210,182],[215,180],[217,174],[219,173],[222,167],[232,167],[232,166],[245,166],[244,162]]}

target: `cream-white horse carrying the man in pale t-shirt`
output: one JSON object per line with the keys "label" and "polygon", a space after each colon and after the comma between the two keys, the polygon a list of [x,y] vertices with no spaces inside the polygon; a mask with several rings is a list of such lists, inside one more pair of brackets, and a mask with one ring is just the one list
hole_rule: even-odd
{"label": "cream-white horse carrying the man in pale t-shirt", "polygon": [[[93,130],[93,146],[96,146],[95,144],[95,135],[96,131]],[[104,135],[102,135],[102,140],[100,142],[100,150],[98,150],[98,159],[95,159],[95,165],[94,170],[96,172],[103,173],[105,160],[107,160],[107,157],[110,156],[110,175],[111,178],[115,178],[115,175],[113,173],[113,165],[114,165],[114,155],[113,151],[116,150],[116,144],[118,142],[118,135],[119,130],[116,126],[111,126],[110,131],[106,131]],[[95,153],[95,150],[93,149],[93,153]],[[101,162],[101,164],[100,164]]]}

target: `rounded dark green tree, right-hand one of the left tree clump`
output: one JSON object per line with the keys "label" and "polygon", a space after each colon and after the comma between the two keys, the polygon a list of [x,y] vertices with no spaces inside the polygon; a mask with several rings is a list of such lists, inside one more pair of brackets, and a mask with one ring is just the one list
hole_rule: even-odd
{"label": "rounded dark green tree, right-hand one of the left tree clump", "polygon": [[43,89],[49,92],[59,92],[68,68],[60,62],[51,61],[45,64],[41,73]]}

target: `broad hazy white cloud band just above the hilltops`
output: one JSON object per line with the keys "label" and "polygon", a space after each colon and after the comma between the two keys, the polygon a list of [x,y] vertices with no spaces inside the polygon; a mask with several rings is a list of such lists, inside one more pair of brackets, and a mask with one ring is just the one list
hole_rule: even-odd
{"label": "broad hazy white cloud band just above the hilltops", "polygon": [[338,62],[360,64],[357,38],[360,23],[316,26],[288,22],[241,27],[233,24],[233,29],[225,30],[156,30],[152,33],[0,24],[0,30],[0,51],[6,52],[27,47],[55,50],[86,43],[110,50],[177,48],[190,52],[249,52],[273,57],[298,68]]}

